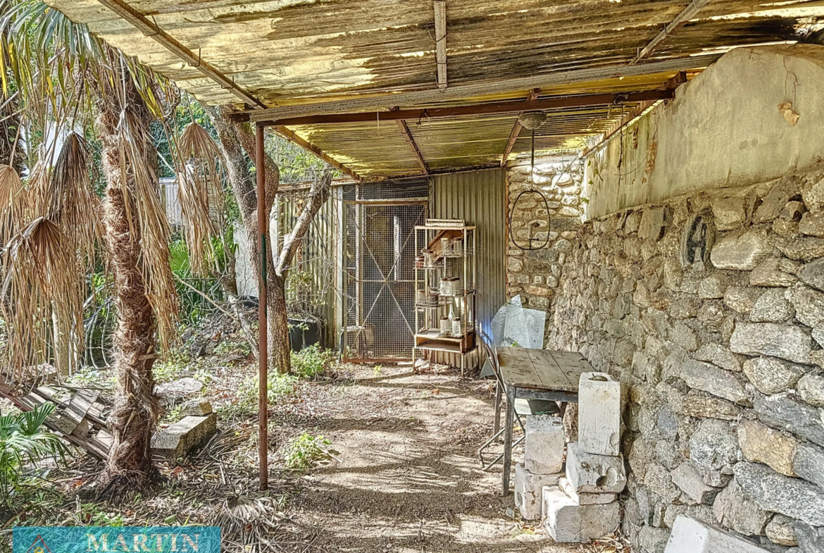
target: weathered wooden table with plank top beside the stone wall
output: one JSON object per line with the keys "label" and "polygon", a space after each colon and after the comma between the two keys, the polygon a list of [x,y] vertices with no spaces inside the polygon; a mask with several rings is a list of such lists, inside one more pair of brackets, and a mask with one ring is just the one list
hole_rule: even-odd
{"label": "weathered wooden table with plank top beside the stone wall", "polygon": [[[507,414],[503,429],[503,494],[509,494],[512,468],[515,399],[578,401],[578,380],[593,368],[583,355],[550,349],[498,348],[498,364],[507,395]],[[565,406],[565,405],[564,405]],[[562,407],[561,416],[564,409]]]}

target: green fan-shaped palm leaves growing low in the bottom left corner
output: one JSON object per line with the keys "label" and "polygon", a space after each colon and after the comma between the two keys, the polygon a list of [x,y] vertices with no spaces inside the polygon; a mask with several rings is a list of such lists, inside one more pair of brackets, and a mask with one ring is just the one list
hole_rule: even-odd
{"label": "green fan-shaped palm leaves growing low in the bottom left corner", "polygon": [[27,413],[0,416],[0,499],[6,507],[20,492],[26,462],[37,462],[44,457],[63,460],[66,452],[63,442],[42,428],[52,412],[54,404],[44,403]]}

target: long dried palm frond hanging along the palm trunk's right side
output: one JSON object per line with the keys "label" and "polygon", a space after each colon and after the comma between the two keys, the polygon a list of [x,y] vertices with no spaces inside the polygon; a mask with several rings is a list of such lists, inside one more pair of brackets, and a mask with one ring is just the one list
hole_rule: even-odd
{"label": "long dried palm frond hanging along the palm trunk's right side", "polygon": [[157,316],[163,349],[168,349],[175,335],[177,294],[169,264],[171,229],[160,199],[152,137],[131,110],[120,113],[117,131],[125,204],[137,212],[127,216],[130,223],[138,223],[146,296]]}

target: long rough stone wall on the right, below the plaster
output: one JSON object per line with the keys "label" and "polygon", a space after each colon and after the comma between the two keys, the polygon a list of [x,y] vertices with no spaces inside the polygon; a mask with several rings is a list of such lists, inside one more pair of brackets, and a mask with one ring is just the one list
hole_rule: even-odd
{"label": "long rough stone wall on the right, below the plaster", "polygon": [[663,551],[684,513],[822,551],[824,171],[628,209],[570,241],[548,347],[622,383],[636,550]]}

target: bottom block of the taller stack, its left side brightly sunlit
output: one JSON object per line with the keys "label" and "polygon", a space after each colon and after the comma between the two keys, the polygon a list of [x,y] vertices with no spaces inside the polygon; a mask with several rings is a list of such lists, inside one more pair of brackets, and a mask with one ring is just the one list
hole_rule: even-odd
{"label": "bottom block of the taller stack, its left side brightly sunlit", "polygon": [[585,543],[616,531],[620,523],[617,502],[606,505],[578,505],[557,486],[543,492],[544,526],[558,543]]}

